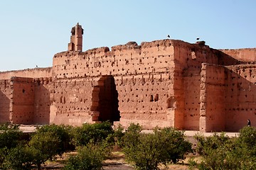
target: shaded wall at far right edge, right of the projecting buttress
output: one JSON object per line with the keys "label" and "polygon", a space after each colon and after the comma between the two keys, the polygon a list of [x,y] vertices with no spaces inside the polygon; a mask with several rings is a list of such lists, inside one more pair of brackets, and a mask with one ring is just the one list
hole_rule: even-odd
{"label": "shaded wall at far right edge, right of the projecting buttress", "polygon": [[238,131],[250,119],[256,125],[256,65],[227,67],[226,130]]}

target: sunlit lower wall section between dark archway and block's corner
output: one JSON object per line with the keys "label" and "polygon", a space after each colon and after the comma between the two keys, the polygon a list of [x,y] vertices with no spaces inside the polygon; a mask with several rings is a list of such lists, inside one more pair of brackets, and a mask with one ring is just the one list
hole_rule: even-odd
{"label": "sunlit lower wall section between dark archway and block's corner", "polygon": [[120,121],[124,127],[140,123],[145,129],[171,126],[166,115],[169,74],[117,77]]}

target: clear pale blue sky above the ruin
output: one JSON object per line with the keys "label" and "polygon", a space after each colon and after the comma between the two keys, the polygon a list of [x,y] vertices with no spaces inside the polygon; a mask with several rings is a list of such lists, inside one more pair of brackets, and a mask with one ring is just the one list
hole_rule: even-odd
{"label": "clear pale blue sky above the ruin", "polygon": [[256,47],[255,0],[12,0],[0,2],[0,72],[51,67],[84,28],[83,51],[165,39],[216,49]]}

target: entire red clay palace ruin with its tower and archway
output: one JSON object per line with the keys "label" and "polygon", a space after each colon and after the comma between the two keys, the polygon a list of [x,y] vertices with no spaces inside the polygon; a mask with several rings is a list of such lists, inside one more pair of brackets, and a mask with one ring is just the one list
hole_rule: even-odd
{"label": "entire red clay palace ruin with its tower and archway", "polygon": [[0,122],[233,131],[256,123],[256,48],[128,42],[82,52],[82,27],[53,66],[0,72]]}

